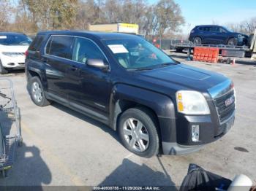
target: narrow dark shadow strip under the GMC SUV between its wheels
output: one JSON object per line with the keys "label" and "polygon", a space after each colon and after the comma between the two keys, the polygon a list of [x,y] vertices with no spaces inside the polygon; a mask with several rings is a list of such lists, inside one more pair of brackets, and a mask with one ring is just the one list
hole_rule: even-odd
{"label": "narrow dark shadow strip under the GMC SUV between its wheels", "polygon": [[118,138],[118,135],[115,130],[108,127],[108,125],[105,125],[102,122],[99,122],[97,120],[92,119],[91,117],[86,116],[85,114],[81,114],[79,112],[76,112],[75,110],[69,109],[67,106],[62,106],[61,104],[58,104],[56,102],[53,102],[51,106],[56,107],[57,109],[60,109],[62,112],[66,112],[67,114],[71,114],[74,117],[77,117],[80,120],[86,121],[91,123],[91,125],[97,126],[98,128],[105,131],[105,133],[109,133],[110,136],[112,136],[116,141],[118,141],[120,144],[120,139]]}

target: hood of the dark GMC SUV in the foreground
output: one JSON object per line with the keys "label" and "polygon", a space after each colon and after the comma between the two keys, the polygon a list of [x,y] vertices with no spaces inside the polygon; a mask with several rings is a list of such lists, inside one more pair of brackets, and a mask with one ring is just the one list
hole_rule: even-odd
{"label": "hood of the dark GMC SUV in the foreground", "polygon": [[143,71],[140,73],[140,79],[144,82],[150,82],[151,87],[155,85],[155,87],[162,86],[174,90],[208,92],[208,89],[224,82],[227,77],[216,72],[178,64],[151,71]]}

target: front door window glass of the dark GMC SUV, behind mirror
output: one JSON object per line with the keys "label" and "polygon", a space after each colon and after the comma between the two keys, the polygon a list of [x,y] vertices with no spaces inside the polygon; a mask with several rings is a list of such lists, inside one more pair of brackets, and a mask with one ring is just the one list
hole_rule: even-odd
{"label": "front door window glass of the dark GMC SUV, behind mirror", "polygon": [[86,61],[91,59],[101,59],[105,60],[105,55],[99,50],[94,42],[89,39],[75,38],[74,49],[72,52],[72,60],[80,63],[86,63]]}

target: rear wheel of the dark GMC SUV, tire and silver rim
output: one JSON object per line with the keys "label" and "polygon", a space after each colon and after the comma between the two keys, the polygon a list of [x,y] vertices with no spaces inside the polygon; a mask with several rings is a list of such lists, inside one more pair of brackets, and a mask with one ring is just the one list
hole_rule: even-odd
{"label": "rear wheel of the dark GMC SUV, tire and silver rim", "polygon": [[39,77],[32,77],[29,80],[29,94],[32,101],[37,106],[48,106],[50,101],[45,98],[45,92],[42,88],[42,83]]}

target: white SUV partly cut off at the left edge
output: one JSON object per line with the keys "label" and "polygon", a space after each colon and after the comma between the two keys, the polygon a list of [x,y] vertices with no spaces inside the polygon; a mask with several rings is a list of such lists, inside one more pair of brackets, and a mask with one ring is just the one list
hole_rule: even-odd
{"label": "white SUV partly cut off at the left edge", "polygon": [[8,69],[24,69],[25,52],[31,39],[21,33],[0,33],[0,74],[7,74]]}

